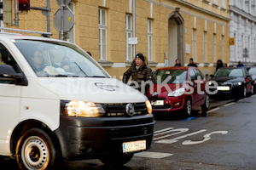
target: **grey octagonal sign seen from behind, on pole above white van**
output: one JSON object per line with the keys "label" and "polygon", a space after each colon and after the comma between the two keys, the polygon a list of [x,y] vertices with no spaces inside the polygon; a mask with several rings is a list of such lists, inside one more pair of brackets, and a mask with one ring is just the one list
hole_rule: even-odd
{"label": "grey octagonal sign seen from behind, on pole above white van", "polygon": [[[70,8],[63,8],[63,31],[70,31],[74,25],[74,14]],[[54,26],[61,31],[61,8],[54,15]]]}

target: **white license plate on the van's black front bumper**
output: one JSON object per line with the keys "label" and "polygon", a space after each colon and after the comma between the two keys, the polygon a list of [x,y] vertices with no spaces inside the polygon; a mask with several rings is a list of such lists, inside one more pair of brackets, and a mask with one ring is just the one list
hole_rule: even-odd
{"label": "white license plate on the van's black front bumper", "polygon": [[123,143],[123,153],[137,150],[146,150],[146,140],[137,140]]}

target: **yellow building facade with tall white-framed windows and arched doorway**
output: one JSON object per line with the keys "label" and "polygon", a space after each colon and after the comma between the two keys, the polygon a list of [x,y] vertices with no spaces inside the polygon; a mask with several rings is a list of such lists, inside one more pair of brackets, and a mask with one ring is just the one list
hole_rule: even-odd
{"label": "yellow building facade with tall white-framed windows and arched doorway", "polygon": [[[17,20],[15,0],[3,1],[12,2],[12,17]],[[49,20],[38,10],[48,5]],[[51,37],[60,38],[54,21],[60,8],[57,1],[31,0],[31,7],[19,12],[19,26],[14,21],[1,26],[50,31]],[[172,66],[175,59],[188,65],[193,58],[210,75],[218,59],[230,63],[228,0],[72,0],[68,7],[74,14],[74,26],[67,41],[89,51],[118,79],[131,66],[134,51],[147,56],[152,70]],[[136,45],[131,44],[134,33]]]}

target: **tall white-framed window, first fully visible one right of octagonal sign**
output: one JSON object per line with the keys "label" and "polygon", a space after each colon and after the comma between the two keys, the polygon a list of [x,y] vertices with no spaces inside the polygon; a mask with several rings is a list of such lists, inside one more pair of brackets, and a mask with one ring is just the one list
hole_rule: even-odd
{"label": "tall white-framed window, first fully visible one right of octagonal sign", "polygon": [[107,10],[99,8],[100,60],[107,61]]}

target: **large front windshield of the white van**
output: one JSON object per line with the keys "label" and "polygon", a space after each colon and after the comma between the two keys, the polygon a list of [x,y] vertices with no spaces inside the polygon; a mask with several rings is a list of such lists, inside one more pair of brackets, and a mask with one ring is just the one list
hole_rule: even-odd
{"label": "large front windshield of the white van", "polygon": [[13,40],[38,77],[109,77],[108,73],[74,44]]}

